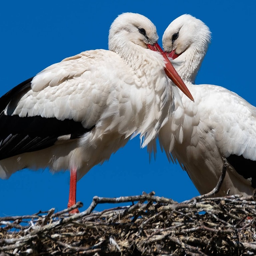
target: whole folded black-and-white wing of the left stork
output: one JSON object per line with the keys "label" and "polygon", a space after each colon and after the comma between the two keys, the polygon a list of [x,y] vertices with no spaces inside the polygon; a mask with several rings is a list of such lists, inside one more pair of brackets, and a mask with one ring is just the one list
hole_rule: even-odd
{"label": "whole folded black-and-white wing of the left stork", "polygon": [[111,64],[104,71],[100,69],[109,54],[88,51],[65,59],[3,95],[0,159],[47,148],[58,140],[68,141],[91,131],[106,115],[113,97],[113,81],[107,79]]}

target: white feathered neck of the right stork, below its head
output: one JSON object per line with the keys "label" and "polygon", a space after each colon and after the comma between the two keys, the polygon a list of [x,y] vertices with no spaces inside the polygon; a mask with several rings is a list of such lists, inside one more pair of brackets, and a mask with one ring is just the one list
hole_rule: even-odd
{"label": "white feathered neck of the right stork, below its head", "polygon": [[184,82],[194,83],[197,72],[202,64],[208,47],[187,48],[178,58],[172,60],[172,63],[178,74]]}

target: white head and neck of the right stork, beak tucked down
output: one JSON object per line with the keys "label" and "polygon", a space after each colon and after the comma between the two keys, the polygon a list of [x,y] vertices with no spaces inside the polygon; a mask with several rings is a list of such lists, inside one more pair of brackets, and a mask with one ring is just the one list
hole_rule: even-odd
{"label": "white head and neck of the right stork, beak tucked down", "polygon": [[[170,23],[163,34],[163,48],[184,81],[194,82],[211,40],[209,28],[184,14]],[[177,58],[177,61],[176,61]]]}

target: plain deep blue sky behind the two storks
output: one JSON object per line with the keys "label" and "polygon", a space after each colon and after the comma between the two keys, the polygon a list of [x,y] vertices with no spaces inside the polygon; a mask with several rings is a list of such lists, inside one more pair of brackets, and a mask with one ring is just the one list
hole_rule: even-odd
{"label": "plain deep blue sky behind the two storks", "polygon": [[[112,21],[123,12],[148,17],[157,27],[159,44],[165,28],[182,14],[205,22],[212,43],[196,84],[228,88],[256,105],[255,1],[8,1],[0,4],[0,95],[47,66],[85,50],[107,49]],[[221,106],[220,106],[221,108]],[[158,149],[149,163],[146,149],[134,138],[108,162],[95,166],[77,184],[85,210],[93,196],[118,197],[155,191],[183,201],[198,195],[179,164]],[[0,180],[0,216],[66,208],[69,172],[22,170]],[[100,205],[96,210],[109,207]]]}

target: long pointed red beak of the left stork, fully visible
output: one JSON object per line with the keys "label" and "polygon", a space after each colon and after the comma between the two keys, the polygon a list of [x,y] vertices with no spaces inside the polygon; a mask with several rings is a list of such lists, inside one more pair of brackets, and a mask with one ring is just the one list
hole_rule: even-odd
{"label": "long pointed red beak of the left stork, fully visible", "polygon": [[148,44],[147,45],[148,48],[152,51],[158,51],[160,52],[166,63],[165,63],[165,73],[166,75],[174,82],[175,85],[177,85],[180,90],[186,95],[188,96],[189,99],[191,99],[192,101],[194,101],[194,98],[192,97],[190,91],[188,90],[187,86],[184,84],[184,82],[182,81],[182,79],[180,78],[179,74],[177,73],[177,71],[175,70],[175,68],[173,67],[172,63],[170,62],[170,60],[167,58],[166,54],[164,53],[164,51],[162,50],[162,48],[159,46],[158,43],[155,43],[154,45]]}

